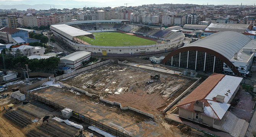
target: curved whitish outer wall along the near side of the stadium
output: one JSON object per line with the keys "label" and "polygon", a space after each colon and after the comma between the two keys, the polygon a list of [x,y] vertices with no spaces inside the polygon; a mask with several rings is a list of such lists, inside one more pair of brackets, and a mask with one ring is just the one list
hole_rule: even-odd
{"label": "curved whitish outer wall along the near side of the stadium", "polygon": [[106,52],[107,56],[141,56],[141,55],[150,55],[158,54],[173,51],[182,45],[184,37],[177,38],[173,41],[163,44],[155,45],[143,45],[143,46],[97,46],[97,45],[84,45],[79,43],[74,43],[73,41],[68,40],[63,37],[61,34],[52,30],[53,34],[57,37],[65,40],[68,45],[72,46],[76,50],[88,51],[92,55],[103,55]]}

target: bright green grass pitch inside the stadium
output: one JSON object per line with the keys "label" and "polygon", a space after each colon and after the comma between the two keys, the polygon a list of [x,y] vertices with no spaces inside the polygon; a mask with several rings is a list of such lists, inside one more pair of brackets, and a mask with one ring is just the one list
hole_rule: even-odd
{"label": "bright green grass pitch inside the stadium", "polygon": [[99,46],[140,46],[156,44],[156,41],[120,32],[95,32],[92,34],[95,36],[95,40],[86,36],[78,36],[78,38],[91,45]]}

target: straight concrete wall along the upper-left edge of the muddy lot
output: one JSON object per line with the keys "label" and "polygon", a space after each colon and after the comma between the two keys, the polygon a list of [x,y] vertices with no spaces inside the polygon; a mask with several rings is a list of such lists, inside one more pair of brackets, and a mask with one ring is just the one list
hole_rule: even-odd
{"label": "straight concrete wall along the upper-left edge of the muddy lot", "polygon": [[100,66],[102,66],[102,65],[109,64],[109,63],[112,63],[112,62],[114,62],[114,60],[113,60],[113,59],[109,59],[109,60],[107,60],[107,61],[99,62],[99,63],[97,63],[97,64],[90,65],[90,66],[88,66],[88,67],[84,67],[84,68],[82,68],[82,69],[75,70],[75,71],[73,71],[73,72],[71,72],[71,73],[67,73],[67,74],[64,74],[64,75],[61,75],[61,76],[57,76],[57,77],[52,78],[52,79],[53,79],[53,80],[57,80],[57,81],[58,81],[58,80],[62,80],[63,78],[67,78],[67,77],[69,77],[69,76],[73,76],[73,75],[76,75],[76,74],[85,72],[85,71],[87,71],[87,70],[91,70],[91,69],[94,69],[94,68],[96,68],[96,67],[100,67]]}

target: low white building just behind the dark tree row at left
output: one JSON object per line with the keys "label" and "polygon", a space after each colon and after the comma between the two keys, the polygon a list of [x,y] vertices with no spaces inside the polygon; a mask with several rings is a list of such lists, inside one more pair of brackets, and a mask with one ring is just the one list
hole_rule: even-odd
{"label": "low white building just behind the dark tree row at left", "polygon": [[12,48],[11,49],[11,54],[15,54],[17,50],[21,51],[21,54],[24,56],[32,56],[32,55],[43,55],[45,53],[44,47],[39,47],[39,46],[29,46],[29,45],[21,45],[17,48]]}

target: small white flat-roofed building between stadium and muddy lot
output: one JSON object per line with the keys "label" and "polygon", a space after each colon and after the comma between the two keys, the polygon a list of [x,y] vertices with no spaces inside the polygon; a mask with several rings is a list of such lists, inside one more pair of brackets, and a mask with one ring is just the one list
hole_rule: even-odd
{"label": "small white flat-roofed building between stadium and muddy lot", "polygon": [[70,67],[71,69],[78,69],[83,64],[83,61],[89,61],[91,53],[87,51],[77,51],[60,58],[59,67]]}

